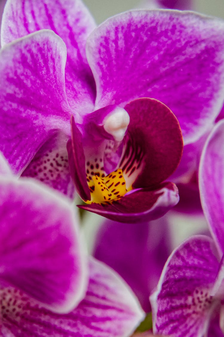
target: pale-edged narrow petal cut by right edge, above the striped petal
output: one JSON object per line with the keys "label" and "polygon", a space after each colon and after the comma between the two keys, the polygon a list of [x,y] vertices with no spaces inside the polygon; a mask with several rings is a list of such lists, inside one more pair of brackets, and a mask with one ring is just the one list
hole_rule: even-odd
{"label": "pale-edged narrow petal cut by right edge, above the striped petal", "polygon": [[224,120],[211,132],[201,155],[199,190],[201,205],[214,240],[224,252]]}

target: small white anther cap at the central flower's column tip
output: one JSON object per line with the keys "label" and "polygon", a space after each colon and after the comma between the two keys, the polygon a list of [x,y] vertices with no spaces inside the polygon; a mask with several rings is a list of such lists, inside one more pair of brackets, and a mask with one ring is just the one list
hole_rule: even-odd
{"label": "small white anther cap at the central flower's column tip", "polygon": [[111,134],[115,141],[121,142],[127,130],[130,117],[127,111],[117,106],[103,121],[103,127],[106,132]]}

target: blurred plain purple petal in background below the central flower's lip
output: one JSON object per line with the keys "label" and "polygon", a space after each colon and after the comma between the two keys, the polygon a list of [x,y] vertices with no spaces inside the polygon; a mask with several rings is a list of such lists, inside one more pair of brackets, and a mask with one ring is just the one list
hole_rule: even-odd
{"label": "blurred plain purple petal in background below the central flower's lip", "polygon": [[93,254],[124,278],[149,312],[149,295],[170,252],[168,226],[161,218],[141,224],[107,220],[99,228]]}

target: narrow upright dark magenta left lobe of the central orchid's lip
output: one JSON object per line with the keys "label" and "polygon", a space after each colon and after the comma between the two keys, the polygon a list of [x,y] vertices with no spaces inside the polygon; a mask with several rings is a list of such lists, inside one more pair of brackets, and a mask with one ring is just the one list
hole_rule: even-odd
{"label": "narrow upright dark magenta left lobe of the central orchid's lip", "polygon": [[90,200],[90,191],[86,180],[82,134],[75,123],[74,117],[71,118],[71,125],[72,138],[67,143],[71,176],[80,197],[83,200]]}

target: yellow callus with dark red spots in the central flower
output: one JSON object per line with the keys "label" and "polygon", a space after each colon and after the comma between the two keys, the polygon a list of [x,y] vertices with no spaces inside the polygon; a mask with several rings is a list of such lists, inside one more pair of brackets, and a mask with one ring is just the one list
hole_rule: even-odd
{"label": "yellow callus with dark red spots in the central flower", "polygon": [[106,177],[93,176],[88,182],[91,200],[87,204],[106,204],[118,200],[127,193],[126,182],[121,168]]}

